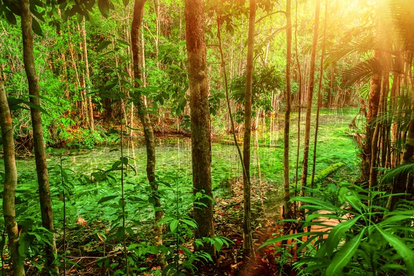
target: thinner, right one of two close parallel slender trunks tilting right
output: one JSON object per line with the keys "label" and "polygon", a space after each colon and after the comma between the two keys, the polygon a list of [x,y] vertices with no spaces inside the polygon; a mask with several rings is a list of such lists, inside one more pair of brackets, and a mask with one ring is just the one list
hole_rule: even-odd
{"label": "thinner, right one of two close parallel slender trunks tilting right", "polygon": [[327,21],[328,21],[328,0],[325,0],[324,40],[322,41],[321,68],[319,70],[319,87],[317,89],[317,110],[316,110],[315,140],[313,141],[313,164],[312,164],[311,188],[313,188],[313,184],[315,182],[317,130],[319,128],[319,110],[322,106],[322,84],[323,84],[322,81],[324,79],[324,55],[325,55],[326,22]]}

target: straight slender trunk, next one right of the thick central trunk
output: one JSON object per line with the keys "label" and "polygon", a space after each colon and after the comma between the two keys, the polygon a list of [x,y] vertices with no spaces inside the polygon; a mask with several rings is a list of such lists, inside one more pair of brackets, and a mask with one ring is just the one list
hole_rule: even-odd
{"label": "straight slender trunk, next one right of the thick central trunk", "polygon": [[250,0],[250,15],[248,18],[247,38],[247,68],[246,68],[246,95],[244,105],[244,139],[243,139],[243,161],[246,174],[243,176],[244,186],[244,223],[243,223],[243,254],[244,258],[255,255],[253,249],[250,208],[250,137],[252,128],[252,89],[253,89],[253,50],[255,47],[255,18],[256,0]]}

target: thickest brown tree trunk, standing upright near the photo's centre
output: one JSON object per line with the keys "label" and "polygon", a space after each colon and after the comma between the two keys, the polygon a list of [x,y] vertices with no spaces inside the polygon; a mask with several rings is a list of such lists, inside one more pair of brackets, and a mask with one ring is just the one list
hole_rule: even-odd
{"label": "thickest brown tree trunk, standing upright near the photo's centre", "polygon": [[[210,109],[208,108],[208,72],[204,39],[204,1],[186,0],[186,43],[190,79],[191,151],[193,157],[194,193],[204,190],[213,197],[211,184]],[[205,207],[194,208],[198,228],[195,238],[214,237],[213,202],[201,199]],[[215,258],[215,247],[204,244],[204,250]]]}

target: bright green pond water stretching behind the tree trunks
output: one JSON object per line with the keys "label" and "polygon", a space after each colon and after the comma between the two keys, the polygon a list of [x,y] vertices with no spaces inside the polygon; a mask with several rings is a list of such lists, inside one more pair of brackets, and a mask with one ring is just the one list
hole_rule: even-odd
{"label": "bright green pond water stretching behind the tree trunks", "polygon": [[[357,113],[355,109],[324,109],[321,112],[320,128],[317,146],[316,171],[322,170],[331,164],[342,161],[346,164],[339,172],[333,175],[337,181],[342,179],[351,180],[357,175],[357,148],[351,137],[345,134],[348,131],[348,124]],[[302,113],[301,135],[303,139],[304,114]],[[270,124],[271,121],[271,124]],[[314,118],[313,118],[314,121]],[[252,175],[253,185],[259,180],[272,190],[273,204],[282,203],[283,186],[283,115],[279,117],[261,118],[259,126],[253,132],[252,142]],[[312,130],[314,130],[314,126]],[[297,113],[292,115],[290,133],[290,179],[295,179],[296,145],[297,145]],[[231,139],[230,136],[226,139]],[[313,133],[311,134],[313,144]],[[270,146],[266,146],[270,145]],[[275,145],[279,147],[275,148]],[[299,154],[299,168],[302,164],[302,147]],[[311,152],[313,146],[311,146]],[[191,152],[190,139],[159,139],[157,140],[157,166],[156,174],[159,179],[172,185],[171,188],[160,184],[160,189],[165,195],[162,199],[166,213],[173,212],[172,202],[175,199],[179,186],[179,193],[191,193]],[[151,221],[152,208],[148,205],[135,202],[128,202],[129,198],[139,197],[142,201],[148,199],[148,185],[146,184],[146,150],[143,145],[126,142],[124,155],[129,157],[131,167],[126,171],[125,190],[127,195],[128,215],[144,223]],[[86,221],[106,221],[114,213],[114,206],[117,201],[108,201],[106,204],[98,204],[102,197],[108,195],[119,195],[120,172],[113,172],[115,180],[110,181],[86,181],[97,169],[107,170],[112,164],[119,160],[120,151],[113,148],[95,148],[82,150],[81,152],[66,152],[63,156],[63,168],[68,173],[70,183],[70,201],[67,204],[68,225],[75,225],[79,217]],[[310,157],[310,162],[312,157]],[[50,185],[52,202],[55,213],[55,224],[59,227],[62,221],[61,187],[59,170],[53,170],[53,166],[59,164],[59,157],[50,155],[48,166],[50,172]],[[310,163],[311,166],[311,163]],[[311,168],[311,167],[310,167]],[[3,166],[1,166],[3,169]],[[36,170],[34,159],[18,159],[17,171],[19,175],[17,204],[24,210],[18,219],[32,218],[37,221],[39,217],[39,201],[37,195]],[[223,143],[214,143],[212,146],[212,179],[215,197],[230,197],[228,187],[229,179],[242,176],[242,169],[239,164],[235,146]],[[300,177],[300,169],[299,169]],[[253,186],[253,190],[255,187]],[[180,200],[184,197],[180,197]],[[112,206],[110,205],[112,204]],[[27,210],[26,210],[27,208]],[[148,222],[149,223],[149,222]]]}

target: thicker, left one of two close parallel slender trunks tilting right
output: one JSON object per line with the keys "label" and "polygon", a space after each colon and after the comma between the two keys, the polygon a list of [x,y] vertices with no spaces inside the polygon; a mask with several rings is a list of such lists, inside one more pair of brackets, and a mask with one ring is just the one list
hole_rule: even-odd
{"label": "thicker, left one of two close parallel slender trunks tilting right", "polygon": [[305,123],[305,144],[304,144],[304,161],[302,166],[302,181],[301,181],[301,196],[304,195],[304,187],[306,187],[308,179],[308,157],[309,157],[309,139],[311,138],[311,112],[312,112],[312,99],[313,99],[313,88],[315,86],[315,57],[316,57],[316,46],[317,37],[319,30],[319,11],[321,8],[321,1],[316,0],[315,9],[315,26],[313,28],[313,43],[311,51],[311,69],[309,76],[309,91],[308,91],[308,102],[306,105],[306,123]]}

